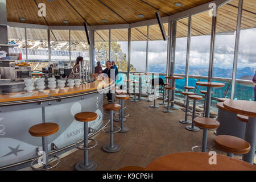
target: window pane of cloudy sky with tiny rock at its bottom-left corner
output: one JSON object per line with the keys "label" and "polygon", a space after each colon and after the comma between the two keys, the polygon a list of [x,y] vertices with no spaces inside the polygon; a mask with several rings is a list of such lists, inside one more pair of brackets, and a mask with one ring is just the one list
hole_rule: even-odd
{"label": "window pane of cloudy sky with tiny rock at its bottom-left corner", "polygon": [[147,26],[131,28],[130,72],[146,72]]}

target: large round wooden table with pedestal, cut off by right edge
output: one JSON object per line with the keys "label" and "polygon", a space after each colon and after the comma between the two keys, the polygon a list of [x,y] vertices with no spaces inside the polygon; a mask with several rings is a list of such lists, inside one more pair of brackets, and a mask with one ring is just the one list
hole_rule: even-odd
{"label": "large round wooden table with pedestal, cut off by right edge", "polygon": [[245,140],[250,143],[251,150],[248,154],[243,155],[243,160],[253,164],[256,143],[256,102],[229,100],[223,102],[223,106],[232,113],[249,117],[249,121],[246,123]]}

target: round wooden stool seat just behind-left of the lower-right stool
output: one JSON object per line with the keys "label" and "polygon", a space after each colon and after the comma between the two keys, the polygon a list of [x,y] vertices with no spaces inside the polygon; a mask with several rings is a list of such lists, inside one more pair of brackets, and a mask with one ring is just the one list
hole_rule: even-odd
{"label": "round wooden stool seat just behind-left of the lower-right stool", "polygon": [[217,129],[220,126],[220,123],[211,118],[195,118],[194,123],[196,126],[201,127],[202,129]]}

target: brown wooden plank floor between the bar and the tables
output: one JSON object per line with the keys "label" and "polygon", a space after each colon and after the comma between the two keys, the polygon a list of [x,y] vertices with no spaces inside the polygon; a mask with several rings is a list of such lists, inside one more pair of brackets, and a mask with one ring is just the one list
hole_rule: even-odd
{"label": "brown wooden plank floor between the bar and the tables", "polygon": [[[158,104],[160,100],[156,103]],[[183,151],[191,151],[192,146],[201,145],[203,130],[192,132],[186,130],[186,125],[179,122],[184,118],[184,112],[174,110],[172,114],[163,113],[166,110],[163,106],[153,109],[150,107],[153,102],[139,101],[133,103],[125,101],[130,113],[125,126],[129,127],[127,133],[115,133],[114,143],[121,146],[116,153],[104,152],[101,148],[109,143],[109,134],[101,132],[95,138],[98,145],[89,150],[89,159],[98,162],[96,170],[117,170],[125,166],[146,167],[160,156]],[[106,116],[108,119],[108,116]],[[189,119],[191,119],[189,117]],[[115,126],[120,123],[114,122]],[[214,147],[214,131],[208,131],[208,147],[211,147],[217,154],[226,155],[225,152]],[[200,149],[199,149],[200,151]],[[236,157],[236,156],[235,156]],[[52,170],[75,170],[77,162],[84,159],[84,152],[77,150],[62,158],[60,164]]]}

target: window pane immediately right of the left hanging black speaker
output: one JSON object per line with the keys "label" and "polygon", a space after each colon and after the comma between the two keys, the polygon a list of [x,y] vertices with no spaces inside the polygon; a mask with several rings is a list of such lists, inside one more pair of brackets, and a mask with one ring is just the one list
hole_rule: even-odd
{"label": "window pane immediately right of the left hanging black speaker", "polygon": [[109,30],[95,31],[94,39],[94,65],[97,65],[97,62],[100,61],[102,69],[105,69],[106,61],[109,60]]}

